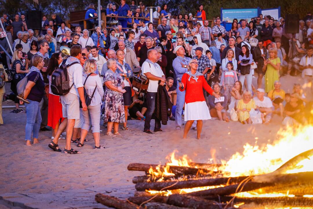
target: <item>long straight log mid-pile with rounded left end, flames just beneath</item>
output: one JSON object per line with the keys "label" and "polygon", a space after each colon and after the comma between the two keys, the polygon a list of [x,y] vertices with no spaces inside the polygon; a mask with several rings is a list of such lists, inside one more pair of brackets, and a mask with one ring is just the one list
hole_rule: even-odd
{"label": "long straight log mid-pile with rounded left end, flames just beneath", "polygon": [[145,190],[157,190],[160,191],[164,187],[169,187],[170,190],[175,189],[186,189],[193,187],[202,187],[202,186],[213,186],[213,185],[227,185],[227,184],[236,184],[240,183],[247,176],[232,177],[232,178],[216,178],[216,179],[200,179],[200,180],[187,180],[187,181],[163,181],[163,182],[141,182],[137,183],[135,188],[138,191]]}

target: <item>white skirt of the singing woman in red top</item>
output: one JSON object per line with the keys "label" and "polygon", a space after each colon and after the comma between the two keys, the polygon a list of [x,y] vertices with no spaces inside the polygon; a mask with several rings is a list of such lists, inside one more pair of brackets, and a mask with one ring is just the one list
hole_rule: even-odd
{"label": "white skirt of the singing woman in red top", "polygon": [[209,119],[211,119],[211,115],[205,101],[185,103],[185,121]]}

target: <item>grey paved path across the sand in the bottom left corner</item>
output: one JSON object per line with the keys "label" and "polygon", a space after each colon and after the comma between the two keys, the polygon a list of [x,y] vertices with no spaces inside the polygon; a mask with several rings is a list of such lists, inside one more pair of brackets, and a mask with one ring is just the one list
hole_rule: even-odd
{"label": "grey paved path across the sand in the bottom left corner", "polygon": [[[95,201],[97,193],[126,199],[134,196],[134,186],[117,188],[95,187],[61,192],[41,193],[3,193],[0,194],[0,209],[23,208],[23,209],[107,209]],[[1,205],[4,204],[5,206]],[[3,206],[3,207],[2,207]]]}

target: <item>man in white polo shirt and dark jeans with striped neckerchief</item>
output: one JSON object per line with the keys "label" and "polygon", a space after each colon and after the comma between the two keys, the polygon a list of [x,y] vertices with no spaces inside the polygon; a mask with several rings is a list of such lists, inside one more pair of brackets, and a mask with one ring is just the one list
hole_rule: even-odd
{"label": "man in white polo shirt and dark jeans with striped neckerchief", "polygon": [[[145,76],[149,79],[149,86],[146,93],[148,109],[146,112],[145,128],[143,132],[152,134],[152,132],[150,131],[150,121],[156,105],[156,93],[159,86],[158,82],[161,81],[160,85],[164,86],[166,80],[160,65],[156,63],[156,50],[149,49],[147,52],[147,58],[148,59],[146,59],[146,61],[144,61],[141,66],[143,74],[145,74]],[[161,121],[155,118],[154,132],[157,131],[162,131]]]}

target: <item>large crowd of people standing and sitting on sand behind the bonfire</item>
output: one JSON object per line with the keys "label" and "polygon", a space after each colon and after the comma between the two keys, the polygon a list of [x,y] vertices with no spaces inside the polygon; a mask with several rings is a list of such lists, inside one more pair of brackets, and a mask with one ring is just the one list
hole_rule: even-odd
{"label": "large crowd of people standing and sitting on sand behind the bonfire", "polygon": [[[260,14],[252,18],[234,19],[226,31],[221,19],[209,26],[203,5],[195,15],[172,15],[167,5],[157,7],[153,17],[161,24],[149,22],[144,4],[120,7],[111,3],[107,15],[117,18],[112,29],[67,28],[53,14],[42,18],[43,29],[35,37],[27,27],[25,16],[14,20],[3,14],[1,21],[10,40],[0,38],[2,48],[14,49],[12,60],[0,49],[1,62],[11,79],[11,95],[3,97],[15,102],[12,113],[26,107],[26,145],[38,143],[39,131],[52,128],[49,148],[61,152],[58,141],[66,132],[65,153],[78,154],[71,144],[84,146],[91,127],[95,149],[100,149],[100,123],[106,135],[115,137],[122,130],[131,131],[127,121],[144,120],[147,134],[163,131],[162,124],[175,121],[173,129],[181,129],[183,138],[190,129],[201,137],[203,120],[217,119],[240,123],[270,123],[274,114],[284,117],[284,124],[306,123],[312,116],[313,102],[313,20],[310,13],[300,21],[299,33],[288,34],[283,18],[275,20]],[[96,16],[90,4],[85,18]],[[135,19],[126,30],[127,17]],[[179,19],[188,19],[179,20]],[[88,25],[93,26],[94,22]],[[0,32],[3,29],[0,29]],[[75,30],[73,32],[72,30]],[[69,49],[69,54],[60,47]],[[67,94],[59,95],[52,81],[55,71],[65,69],[69,76]],[[304,87],[294,84],[292,92],[281,89],[280,77],[289,74],[304,78]],[[133,78],[149,80],[146,91],[133,87]],[[25,78],[26,77],[26,78]],[[252,84],[257,78],[257,86]],[[21,81],[23,93],[18,93]],[[290,84],[293,85],[293,84]],[[264,88],[263,88],[264,86]],[[266,96],[265,96],[266,95]],[[151,119],[155,119],[154,131]],[[194,122],[197,121],[197,122]],[[2,112],[0,123],[3,124]],[[113,129],[113,133],[112,133]],[[32,136],[33,133],[33,136]],[[122,134],[127,134],[123,132]]]}

